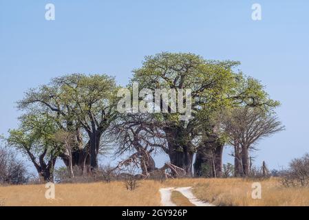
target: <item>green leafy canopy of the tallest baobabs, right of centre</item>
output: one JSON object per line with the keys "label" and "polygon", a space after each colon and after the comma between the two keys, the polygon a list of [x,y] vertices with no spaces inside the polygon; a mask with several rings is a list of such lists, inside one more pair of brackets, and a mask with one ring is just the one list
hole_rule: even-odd
{"label": "green leafy canopy of the tallest baobabs, right of centre", "polygon": [[177,128],[180,148],[198,136],[207,138],[210,133],[217,133],[226,142],[228,137],[217,124],[222,111],[241,106],[273,111],[279,105],[269,98],[258,80],[235,72],[238,65],[239,62],[209,61],[190,53],[164,52],[147,56],[142,67],[134,70],[131,82],[138,82],[140,89],[191,89],[193,117],[189,122],[180,122],[177,113],[156,115],[162,127]]}

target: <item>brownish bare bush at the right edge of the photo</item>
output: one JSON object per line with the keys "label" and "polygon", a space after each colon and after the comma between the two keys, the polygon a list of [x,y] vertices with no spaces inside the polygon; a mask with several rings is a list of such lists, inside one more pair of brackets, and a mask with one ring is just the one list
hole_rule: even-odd
{"label": "brownish bare bush at the right edge of the photo", "polygon": [[286,187],[309,186],[309,154],[293,159],[280,182]]}

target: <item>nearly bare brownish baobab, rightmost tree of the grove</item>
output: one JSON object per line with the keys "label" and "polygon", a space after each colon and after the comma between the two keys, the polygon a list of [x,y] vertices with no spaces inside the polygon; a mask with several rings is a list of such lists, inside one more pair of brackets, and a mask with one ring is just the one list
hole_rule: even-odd
{"label": "nearly bare brownish baobab, rightmost tree of the grove", "polygon": [[274,113],[257,107],[224,111],[221,120],[222,129],[235,149],[235,175],[241,176],[250,172],[249,150],[255,150],[255,144],[262,138],[284,130]]}

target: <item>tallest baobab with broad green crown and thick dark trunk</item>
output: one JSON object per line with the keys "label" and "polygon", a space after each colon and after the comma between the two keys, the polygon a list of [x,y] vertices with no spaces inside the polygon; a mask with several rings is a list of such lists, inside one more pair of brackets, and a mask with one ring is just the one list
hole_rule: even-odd
{"label": "tallest baobab with broad green crown and thick dark trunk", "polygon": [[[167,140],[167,151],[171,164],[184,168],[192,174],[193,155],[197,146],[193,140],[199,131],[198,114],[210,105],[220,105],[226,93],[234,85],[235,74],[232,69],[239,63],[233,61],[206,61],[195,54],[161,53],[147,56],[142,67],[134,70],[133,82],[140,88],[191,89],[192,117],[179,120],[179,113],[171,113],[172,102],[167,104],[168,113],[156,113],[157,121]],[[177,106],[179,106],[177,100]],[[162,102],[158,108],[162,109]]]}

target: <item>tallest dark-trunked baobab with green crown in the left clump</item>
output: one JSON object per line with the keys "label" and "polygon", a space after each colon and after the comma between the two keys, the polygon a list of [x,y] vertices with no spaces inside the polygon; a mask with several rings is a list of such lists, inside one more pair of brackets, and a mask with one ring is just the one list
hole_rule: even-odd
{"label": "tallest dark-trunked baobab with green crown in the left clump", "polygon": [[118,115],[115,80],[104,74],[73,74],[54,78],[53,82],[61,89],[63,104],[72,111],[89,137],[90,166],[95,170],[102,135]]}

